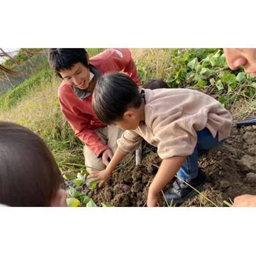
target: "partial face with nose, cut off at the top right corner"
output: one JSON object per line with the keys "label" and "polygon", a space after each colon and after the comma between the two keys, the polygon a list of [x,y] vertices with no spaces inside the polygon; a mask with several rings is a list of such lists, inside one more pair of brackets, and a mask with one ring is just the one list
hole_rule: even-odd
{"label": "partial face with nose, cut off at the top right corner", "polygon": [[226,48],[223,50],[229,68],[235,70],[243,65],[246,73],[251,73],[256,77],[256,48]]}

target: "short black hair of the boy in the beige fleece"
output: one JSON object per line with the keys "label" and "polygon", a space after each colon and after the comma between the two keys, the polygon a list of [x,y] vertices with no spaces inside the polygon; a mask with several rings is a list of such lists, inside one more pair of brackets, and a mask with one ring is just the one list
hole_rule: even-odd
{"label": "short black hair of the boy in the beige fleece", "polygon": [[122,120],[128,108],[139,108],[142,96],[137,84],[123,73],[107,73],[96,83],[93,110],[104,124]]}

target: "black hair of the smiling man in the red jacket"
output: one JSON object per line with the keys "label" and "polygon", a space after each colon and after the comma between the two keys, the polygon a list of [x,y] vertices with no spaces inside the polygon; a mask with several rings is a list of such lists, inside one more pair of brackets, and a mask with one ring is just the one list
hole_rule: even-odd
{"label": "black hair of the smiling man in the red jacket", "polygon": [[50,48],[48,51],[48,61],[50,67],[60,77],[61,69],[70,69],[75,63],[81,62],[85,67],[89,67],[84,48]]}

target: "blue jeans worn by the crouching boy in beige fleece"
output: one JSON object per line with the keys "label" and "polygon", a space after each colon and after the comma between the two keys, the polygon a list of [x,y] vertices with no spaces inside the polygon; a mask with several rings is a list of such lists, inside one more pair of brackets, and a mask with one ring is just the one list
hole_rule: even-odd
{"label": "blue jeans worn by the crouching boy in beige fleece", "polygon": [[188,155],[183,165],[177,172],[178,178],[185,181],[190,181],[195,178],[198,173],[198,152],[200,149],[210,149],[217,147],[225,142],[225,139],[218,141],[218,132],[215,138],[212,138],[210,131],[204,128],[202,131],[197,133],[197,143],[192,155]]}

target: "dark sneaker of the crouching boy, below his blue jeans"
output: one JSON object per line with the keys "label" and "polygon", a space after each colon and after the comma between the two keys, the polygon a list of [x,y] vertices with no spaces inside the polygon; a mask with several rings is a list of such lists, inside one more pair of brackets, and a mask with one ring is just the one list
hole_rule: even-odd
{"label": "dark sneaker of the crouching boy, below his blue jeans", "polygon": [[[193,188],[201,191],[203,189],[204,183],[208,181],[210,181],[210,178],[199,168],[197,177],[193,178],[188,183]],[[173,202],[174,204],[181,204],[190,197],[198,194],[193,188],[189,187],[182,180],[177,178],[177,180],[173,182],[173,187],[164,193],[165,198],[168,203]]]}

